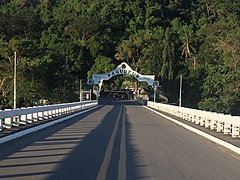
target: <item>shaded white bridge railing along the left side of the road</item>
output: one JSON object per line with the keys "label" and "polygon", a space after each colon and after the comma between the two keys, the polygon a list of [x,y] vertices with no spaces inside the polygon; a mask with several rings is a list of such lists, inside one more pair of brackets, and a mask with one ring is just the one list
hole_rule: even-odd
{"label": "shaded white bridge railing along the left side of the road", "polygon": [[43,121],[60,115],[69,114],[81,109],[96,106],[98,101],[84,101],[66,104],[22,107],[19,109],[5,109],[0,111],[0,131],[13,126],[26,125]]}

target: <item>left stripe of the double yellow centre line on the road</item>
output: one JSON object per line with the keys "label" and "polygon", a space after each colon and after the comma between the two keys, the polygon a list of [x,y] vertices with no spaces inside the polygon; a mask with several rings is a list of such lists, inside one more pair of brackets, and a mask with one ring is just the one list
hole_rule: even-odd
{"label": "left stripe of the double yellow centre line on the road", "polygon": [[114,126],[114,129],[113,129],[110,141],[108,143],[108,146],[107,146],[107,149],[106,149],[106,152],[105,152],[105,156],[104,156],[104,159],[103,159],[103,162],[101,164],[101,167],[100,167],[100,170],[98,172],[98,176],[97,176],[96,180],[105,180],[106,179],[107,170],[108,170],[109,163],[110,163],[110,160],[111,160],[111,157],[112,157],[113,144],[114,144],[115,139],[116,139],[116,134],[117,134],[118,126],[119,126],[119,121],[121,119],[122,109],[123,109],[123,106],[120,107],[119,114],[118,114],[117,120],[115,122],[115,126]]}

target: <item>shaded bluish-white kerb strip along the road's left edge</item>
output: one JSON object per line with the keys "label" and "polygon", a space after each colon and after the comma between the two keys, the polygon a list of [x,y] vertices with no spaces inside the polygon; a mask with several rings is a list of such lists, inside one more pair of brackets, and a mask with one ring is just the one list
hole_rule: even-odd
{"label": "shaded bluish-white kerb strip along the road's left edge", "polygon": [[39,126],[36,126],[36,127],[33,127],[33,128],[26,129],[24,131],[20,131],[18,133],[11,134],[9,136],[2,137],[2,138],[0,138],[0,144],[8,142],[8,141],[11,141],[11,140],[14,140],[14,139],[17,139],[19,137],[25,136],[25,135],[30,134],[32,132],[39,131],[41,129],[47,128],[49,126],[52,126],[54,124],[66,121],[66,120],[71,119],[71,118],[73,118],[75,116],[78,116],[78,115],[84,114],[86,112],[92,111],[94,109],[97,109],[97,108],[99,108],[101,106],[102,105],[98,105],[98,106],[95,106],[93,108],[87,109],[85,111],[81,111],[81,112],[78,112],[78,113],[75,113],[75,114],[72,114],[72,115],[69,115],[69,116],[57,119],[57,120],[53,120],[53,121],[48,122],[48,123],[44,123],[42,125],[39,125]]}

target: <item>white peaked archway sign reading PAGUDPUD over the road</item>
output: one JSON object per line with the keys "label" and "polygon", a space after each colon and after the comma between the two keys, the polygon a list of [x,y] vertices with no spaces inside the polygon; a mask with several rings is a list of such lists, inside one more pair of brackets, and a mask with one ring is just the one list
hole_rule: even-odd
{"label": "white peaked archway sign reading PAGUDPUD over the road", "polygon": [[112,70],[109,73],[105,74],[93,74],[92,80],[94,85],[99,85],[101,88],[103,81],[107,81],[114,76],[128,74],[135,77],[138,81],[145,81],[149,86],[154,85],[155,75],[142,75],[134,71],[127,63],[123,62],[117,66],[116,69]]}

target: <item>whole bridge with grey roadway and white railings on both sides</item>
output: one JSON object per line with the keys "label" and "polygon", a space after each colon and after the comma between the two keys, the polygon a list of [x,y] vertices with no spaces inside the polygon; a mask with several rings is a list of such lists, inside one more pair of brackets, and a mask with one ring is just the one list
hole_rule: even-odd
{"label": "whole bridge with grey roadway and white railings on both sides", "polygon": [[123,100],[0,112],[0,179],[237,180],[238,118]]}

